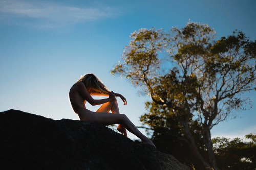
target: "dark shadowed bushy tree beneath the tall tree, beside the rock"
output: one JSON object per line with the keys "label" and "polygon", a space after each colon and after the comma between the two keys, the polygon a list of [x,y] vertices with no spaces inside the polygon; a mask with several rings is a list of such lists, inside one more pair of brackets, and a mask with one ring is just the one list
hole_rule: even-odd
{"label": "dark shadowed bushy tree beneath the tall tree, beside the rock", "polygon": [[[189,141],[184,138],[184,130],[176,116],[163,112],[158,115],[150,115],[146,118],[146,122],[144,121],[144,124],[151,124],[151,129],[154,130],[151,133],[151,139],[157,149],[163,153],[172,154],[177,160],[189,167],[193,165],[195,169],[205,169],[191,152]],[[164,118],[161,115],[168,115],[168,118]],[[144,118],[144,115],[141,116],[141,119]],[[206,152],[201,126],[196,121],[191,120],[189,129],[196,141],[200,154],[205,157]],[[152,132],[152,130],[149,132]]]}

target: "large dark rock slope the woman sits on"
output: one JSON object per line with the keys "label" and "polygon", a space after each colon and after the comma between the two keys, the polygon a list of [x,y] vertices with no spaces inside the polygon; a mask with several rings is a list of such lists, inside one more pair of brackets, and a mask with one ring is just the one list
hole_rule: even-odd
{"label": "large dark rock slope the woman sits on", "polygon": [[189,169],[101,124],[0,112],[0,169]]}

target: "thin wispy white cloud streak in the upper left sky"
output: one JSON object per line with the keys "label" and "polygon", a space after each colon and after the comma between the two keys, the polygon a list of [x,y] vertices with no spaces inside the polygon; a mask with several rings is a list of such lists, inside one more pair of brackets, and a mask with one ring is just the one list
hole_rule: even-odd
{"label": "thin wispy white cloud streak in the upper left sky", "polygon": [[[115,9],[110,7],[78,8],[54,3],[28,3],[25,1],[0,0],[1,19],[29,18],[39,28],[58,28],[76,23],[112,17]],[[26,21],[28,22],[28,21]]]}

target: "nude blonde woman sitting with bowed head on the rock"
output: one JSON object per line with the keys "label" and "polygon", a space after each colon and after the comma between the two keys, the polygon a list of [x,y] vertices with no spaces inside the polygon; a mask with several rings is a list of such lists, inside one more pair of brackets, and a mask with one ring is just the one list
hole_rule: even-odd
{"label": "nude blonde woman sitting with bowed head on the rock", "polygon": [[[95,100],[91,95],[106,95],[109,98]],[[127,104],[126,99],[121,94],[110,91],[94,74],[82,76],[69,92],[72,109],[78,114],[80,120],[103,125],[118,124],[117,130],[123,135],[127,136],[127,129],[140,138],[143,144],[151,144],[155,147],[154,143],[143,135],[125,114],[119,113],[115,96],[120,97],[124,105]],[[93,106],[101,106],[96,112],[90,111],[85,106],[87,101]]]}

